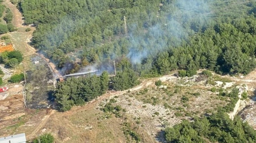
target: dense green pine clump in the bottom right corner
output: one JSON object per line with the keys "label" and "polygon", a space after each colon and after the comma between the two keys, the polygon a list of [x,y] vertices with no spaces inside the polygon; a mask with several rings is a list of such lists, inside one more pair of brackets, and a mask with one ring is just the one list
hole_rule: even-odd
{"label": "dense green pine clump in the bottom right corner", "polygon": [[239,116],[232,121],[224,112],[209,117],[195,117],[165,129],[165,139],[169,143],[254,143],[256,131]]}

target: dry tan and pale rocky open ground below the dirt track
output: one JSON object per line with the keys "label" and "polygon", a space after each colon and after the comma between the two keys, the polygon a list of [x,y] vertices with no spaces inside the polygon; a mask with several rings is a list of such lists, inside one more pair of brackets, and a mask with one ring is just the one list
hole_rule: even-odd
{"label": "dry tan and pale rocky open ground below the dirt track", "polygon": [[[176,88],[175,85],[178,84],[180,86],[179,88],[181,88],[181,93],[174,94],[173,96],[166,95],[165,86],[159,89],[154,85],[154,82],[159,79],[164,81],[165,86],[170,91],[174,91]],[[14,114],[24,116],[25,113],[25,117],[24,120],[22,120],[24,123],[19,127],[15,127],[15,130],[25,132],[28,139],[33,139],[44,132],[51,132],[55,136],[57,143],[126,142],[126,137],[121,130],[123,127],[121,124],[129,119],[129,122],[139,127],[140,131],[143,132],[143,136],[147,136],[147,142],[160,142],[163,138],[163,134],[161,134],[160,131],[164,129],[166,125],[172,126],[181,122],[183,119],[190,119],[189,113],[192,115],[200,115],[210,110],[213,111],[218,105],[225,104],[224,101],[219,100],[215,93],[208,91],[211,86],[201,84],[203,82],[191,82],[194,79],[181,79],[173,75],[166,75],[144,80],[140,85],[132,89],[109,91],[86,105],[73,107],[70,111],[65,113],[59,113],[56,110],[31,110],[33,111],[33,114],[31,114],[23,108],[21,101],[16,101],[20,102],[19,108],[21,109],[16,110]],[[242,79],[237,79],[237,81],[241,82],[240,80]],[[244,81],[242,81],[242,83],[243,82]],[[140,92],[144,91],[145,88],[148,89],[147,93],[141,94]],[[184,103],[181,102],[181,97],[186,92],[201,93],[198,97],[189,97],[190,100],[187,102],[189,107],[184,107]],[[115,96],[118,97],[115,98],[117,100],[115,105],[121,105],[122,108],[127,110],[127,112],[124,113],[126,118],[116,118],[114,115],[112,115],[111,118],[102,118],[106,114],[100,111],[99,108]],[[158,98],[155,105],[152,104],[153,100],[151,97]],[[10,98],[6,100],[10,100]],[[145,101],[150,100],[152,100],[152,102],[145,103]],[[170,105],[170,107],[166,108],[165,103]],[[6,109],[8,104],[10,104],[10,102],[6,102],[6,104],[1,107],[2,112],[4,111],[5,114],[10,110],[9,108]],[[156,112],[159,114],[156,115]],[[181,116],[177,116],[175,113],[180,113]],[[4,117],[12,117],[12,114],[13,113],[4,115]],[[15,117],[16,120],[19,118],[18,116]],[[138,121],[139,117],[140,121]],[[25,120],[26,118],[29,118],[29,120]],[[19,123],[19,121],[10,121],[11,119],[0,121],[0,129],[2,132],[5,132],[4,134],[0,134],[1,136],[13,133],[7,131],[13,128],[8,126],[15,125],[17,122]]]}

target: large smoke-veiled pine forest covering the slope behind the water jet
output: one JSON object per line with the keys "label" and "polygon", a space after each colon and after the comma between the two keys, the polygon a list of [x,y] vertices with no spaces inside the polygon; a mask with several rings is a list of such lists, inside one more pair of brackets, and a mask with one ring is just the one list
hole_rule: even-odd
{"label": "large smoke-veiled pine forest covering the slope behind the water jet", "polygon": [[[57,63],[104,67],[127,57],[140,76],[209,68],[247,74],[255,67],[256,3],[233,0],[24,0],[33,45]],[[128,37],[125,37],[126,16]],[[81,62],[74,63],[73,54]],[[106,69],[106,68],[105,68]]]}

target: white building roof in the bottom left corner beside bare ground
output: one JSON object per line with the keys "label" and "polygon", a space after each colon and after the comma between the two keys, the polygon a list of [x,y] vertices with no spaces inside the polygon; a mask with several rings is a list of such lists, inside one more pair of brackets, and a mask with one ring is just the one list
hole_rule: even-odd
{"label": "white building roof in the bottom left corner beside bare ground", "polygon": [[0,143],[25,143],[25,133],[0,138]]}

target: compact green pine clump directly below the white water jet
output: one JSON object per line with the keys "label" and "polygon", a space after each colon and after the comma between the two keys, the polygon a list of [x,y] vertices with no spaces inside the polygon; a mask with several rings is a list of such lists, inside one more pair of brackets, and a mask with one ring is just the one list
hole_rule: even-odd
{"label": "compact green pine clump directly below the white water jet", "polygon": [[71,77],[59,82],[55,91],[55,100],[60,111],[71,109],[72,105],[81,105],[104,94],[108,89],[109,77],[106,72],[101,76]]}

